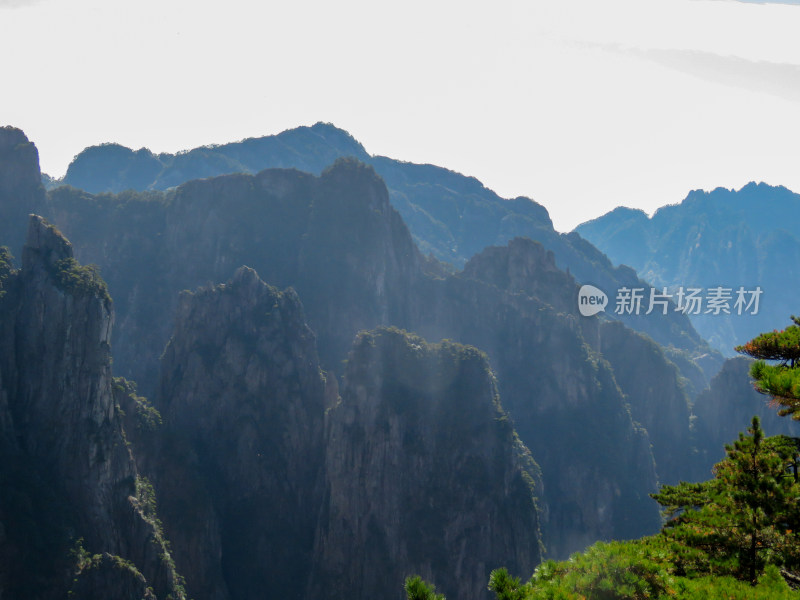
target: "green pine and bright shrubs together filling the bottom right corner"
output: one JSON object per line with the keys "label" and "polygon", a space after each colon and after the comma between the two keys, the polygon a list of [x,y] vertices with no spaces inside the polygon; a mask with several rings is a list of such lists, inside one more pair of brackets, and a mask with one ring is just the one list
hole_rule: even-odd
{"label": "green pine and bright shrubs together filling the bottom right corner", "polygon": [[[714,479],[664,486],[653,497],[668,521],[655,536],[597,542],[569,560],[548,560],[522,583],[495,569],[497,600],[790,600],[800,568],[800,459],[795,442],[766,438],[754,417],[726,447]],[[785,579],[786,578],[786,579]],[[409,600],[443,600],[406,580]]]}

